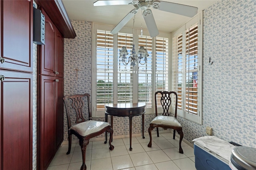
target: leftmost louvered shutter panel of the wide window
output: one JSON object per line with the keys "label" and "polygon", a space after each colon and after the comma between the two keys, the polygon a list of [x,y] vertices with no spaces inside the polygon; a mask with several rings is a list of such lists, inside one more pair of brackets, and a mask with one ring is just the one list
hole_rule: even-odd
{"label": "leftmost louvered shutter panel of the wide window", "polygon": [[104,111],[106,103],[113,103],[113,35],[109,31],[97,30],[97,111]]}

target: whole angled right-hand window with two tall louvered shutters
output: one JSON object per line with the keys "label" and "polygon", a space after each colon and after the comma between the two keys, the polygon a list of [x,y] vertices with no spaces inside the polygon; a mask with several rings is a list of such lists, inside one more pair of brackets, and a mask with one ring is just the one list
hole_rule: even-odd
{"label": "whole angled right-hand window with two tall louvered shutters", "polygon": [[201,14],[173,33],[172,90],[178,95],[178,115],[202,124]]}

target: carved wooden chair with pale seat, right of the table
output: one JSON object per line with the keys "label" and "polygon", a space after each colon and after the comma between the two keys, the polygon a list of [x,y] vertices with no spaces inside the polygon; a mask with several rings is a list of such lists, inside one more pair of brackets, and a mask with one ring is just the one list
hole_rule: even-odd
{"label": "carved wooden chair with pale seat, right of the table", "polygon": [[[162,115],[158,115],[157,113],[157,95],[158,93],[161,95],[160,102],[163,107],[163,113]],[[174,117],[171,117],[168,113],[169,108],[171,106],[172,100],[171,100],[171,94],[174,94],[176,96],[176,104],[175,104],[175,114]],[[152,146],[152,135],[151,131],[156,127],[157,136],[159,137],[158,127],[162,127],[164,129],[172,128],[173,129],[173,139],[175,139],[175,132],[177,131],[178,134],[180,134],[180,149],[179,152],[183,154],[183,150],[181,148],[181,142],[183,138],[183,132],[182,127],[180,123],[177,121],[177,93],[174,91],[157,91],[155,93],[155,107],[156,107],[156,117],[151,121],[150,127],[148,128],[148,133],[150,137],[150,141],[148,143],[148,147]]]}

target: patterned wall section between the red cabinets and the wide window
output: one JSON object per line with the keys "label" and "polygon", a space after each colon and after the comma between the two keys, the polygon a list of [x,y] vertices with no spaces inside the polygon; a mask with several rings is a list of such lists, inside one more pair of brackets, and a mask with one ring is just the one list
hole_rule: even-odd
{"label": "patterned wall section between the red cabinets and the wide window", "polygon": [[[71,22],[76,38],[64,38],[64,95],[84,93],[92,95],[92,23]],[[65,141],[68,140],[68,124],[66,111],[64,114]],[[75,120],[76,117],[71,116],[71,121],[75,122]]]}

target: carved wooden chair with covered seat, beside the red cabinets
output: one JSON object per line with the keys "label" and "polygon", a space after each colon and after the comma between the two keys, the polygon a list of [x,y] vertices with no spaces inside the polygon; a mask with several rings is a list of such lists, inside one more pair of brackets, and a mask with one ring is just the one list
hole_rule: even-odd
{"label": "carved wooden chair with covered seat, beside the red cabinets", "polygon": [[[84,105],[83,99],[87,99],[88,101],[88,121],[85,121],[84,116],[82,114],[82,109]],[[71,101],[72,103],[71,103]],[[72,134],[76,135],[79,139],[79,144],[82,150],[82,166],[81,170],[86,170],[85,165],[85,154],[86,154],[86,146],[89,144],[90,138],[98,136],[104,132],[110,133],[109,139],[109,149],[113,150],[114,146],[111,144],[113,138],[113,129],[109,125],[109,123],[102,121],[93,121],[92,120],[92,112],[90,108],[90,95],[85,93],[84,95],[72,95],[72,96],[64,96],[63,97],[64,105],[66,107],[66,115],[68,119],[68,152],[70,154],[71,143],[72,143]],[[71,106],[68,105],[71,103]],[[72,125],[70,121],[70,112],[69,108],[71,107],[76,112],[76,124]],[[106,142],[105,142],[106,143]]]}

